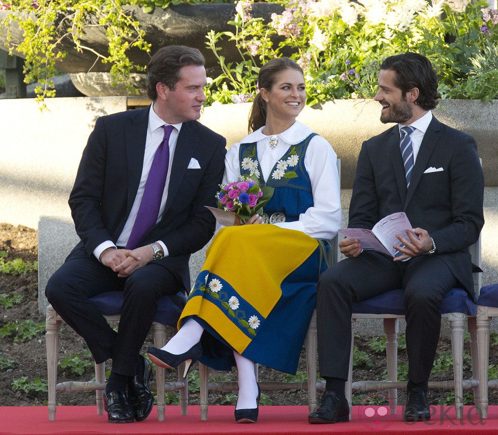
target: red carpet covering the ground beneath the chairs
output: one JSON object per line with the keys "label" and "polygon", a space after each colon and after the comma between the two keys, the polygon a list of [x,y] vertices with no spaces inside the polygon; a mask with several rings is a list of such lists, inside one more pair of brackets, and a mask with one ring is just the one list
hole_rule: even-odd
{"label": "red carpet covering the ground beneath the chairs", "polygon": [[[140,423],[111,424],[107,416],[97,415],[97,407],[57,407],[55,421],[48,420],[47,407],[0,407],[0,435],[258,435],[266,434],[369,434],[386,431],[389,435],[418,433],[436,434],[479,434],[498,433],[498,406],[489,407],[488,418],[480,421],[474,407],[464,407],[463,419],[456,420],[453,407],[431,407],[433,413],[427,423],[404,423],[401,420],[402,408],[391,416],[384,415],[385,407],[353,407],[352,421],[337,424],[308,424],[308,408],[260,407],[256,424],[235,424],[234,407],[209,407],[208,421],[201,421],[198,406],[189,407],[189,415],[181,416],[176,406],[166,408],[166,421],[157,420],[155,407],[147,418]],[[370,416],[371,414],[374,414]],[[381,414],[381,415],[379,415]],[[393,417],[393,418],[392,418]]]}

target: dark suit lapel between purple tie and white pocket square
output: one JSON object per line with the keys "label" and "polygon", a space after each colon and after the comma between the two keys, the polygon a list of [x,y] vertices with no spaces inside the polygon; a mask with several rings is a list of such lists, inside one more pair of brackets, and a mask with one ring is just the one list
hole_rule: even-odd
{"label": "dark suit lapel between purple tie and white pocket square", "polygon": [[178,135],[178,140],[176,142],[173,164],[171,167],[168,198],[166,199],[163,217],[180,189],[180,182],[189,166],[190,159],[192,159],[192,156],[194,155],[194,149],[197,147],[199,138],[196,136],[195,130],[195,121],[183,122],[181,126],[180,134]]}

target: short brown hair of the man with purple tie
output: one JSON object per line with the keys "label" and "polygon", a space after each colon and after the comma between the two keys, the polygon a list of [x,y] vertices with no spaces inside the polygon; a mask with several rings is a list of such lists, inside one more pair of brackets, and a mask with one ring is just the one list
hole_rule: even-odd
{"label": "short brown hair of the man with purple tie", "polygon": [[168,45],[160,48],[150,59],[147,66],[147,95],[155,101],[158,93],[155,87],[164,83],[171,90],[180,80],[180,69],[191,65],[201,67],[205,64],[202,53],[197,48],[185,45]]}

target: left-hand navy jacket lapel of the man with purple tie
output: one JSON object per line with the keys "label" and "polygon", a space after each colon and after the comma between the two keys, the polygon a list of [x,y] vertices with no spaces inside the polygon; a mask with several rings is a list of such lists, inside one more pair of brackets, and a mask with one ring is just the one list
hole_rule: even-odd
{"label": "left-hand navy jacket lapel of the man with purple tie", "polygon": [[150,106],[141,110],[130,111],[132,122],[124,126],[124,138],[126,140],[126,156],[128,162],[127,216],[130,214],[130,210],[135,202],[138,186],[140,184],[140,178],[142,176],[149,109]]}

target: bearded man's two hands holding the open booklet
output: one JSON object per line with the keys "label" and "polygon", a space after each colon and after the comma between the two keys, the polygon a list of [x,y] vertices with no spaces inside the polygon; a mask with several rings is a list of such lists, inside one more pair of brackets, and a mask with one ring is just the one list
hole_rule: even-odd
{"label": "bearded man's two hands holding the open booklet", "polygon": [[[425,254],[433,247],[429,233],[422,228],[414,228],[413,230],[405,230],[407,236],[396,234],[396,238],[404,245],[393,245],[393,248],[403,255],[394,258],[394,261],[404,260],[417,255]],[[407,240],[408,238],[408,240]],[[361,243],[358,239],[344,239],[339,242],[340,253],[346,257],[358,257],[361,253]]]}

